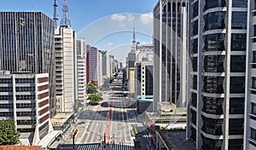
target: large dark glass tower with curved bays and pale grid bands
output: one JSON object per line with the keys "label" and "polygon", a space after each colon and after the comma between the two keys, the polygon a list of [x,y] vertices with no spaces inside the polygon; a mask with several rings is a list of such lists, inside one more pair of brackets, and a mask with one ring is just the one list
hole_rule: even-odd
{"label": "large dark glass tower with curved bays and pale grid bands", "polygon": [[242,149],[247,1],[189,1],[189,30],[187,137],[196,149]]}

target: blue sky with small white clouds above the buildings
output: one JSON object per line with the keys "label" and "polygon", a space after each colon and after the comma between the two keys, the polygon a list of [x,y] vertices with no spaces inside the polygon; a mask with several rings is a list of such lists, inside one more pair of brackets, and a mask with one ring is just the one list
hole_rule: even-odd
{"label": "blue sky with small white clouds above the buildings", "polygon": [[[152,12],[158,0],[67,0],[71,26],[78,37],[98,49],[108,50],[118,61],[125,61],[131,50],[133,26],[136,40],[152,43]],[[58,17],[61,6],[57,0]],[[54,0],[0,0],[0,11],[43,12],[53,18]]]}

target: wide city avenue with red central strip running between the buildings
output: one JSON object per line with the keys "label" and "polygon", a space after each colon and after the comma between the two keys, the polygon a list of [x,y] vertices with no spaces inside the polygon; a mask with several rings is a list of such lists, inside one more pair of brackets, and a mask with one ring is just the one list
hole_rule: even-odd
{"label": "wide city avenue with red central strip running between the buildings", "polygon": [[103,92],[103,101],[96,106],[83,107],[83,111],[79,114],[76,124],[67,131],[63,136],[59,149],[71,148],[73,139],[71,133],[73,130],[79,130],[75,137],[75,144],[99,144],[106,143],[116,144],[124,147],[134,147],[131,136],[132,125],[142,126],[129,116],[130,112],[134,112],[134,106],[131,107],[131,100],[125,98],[122,88],[122,74],[113,80],[111,89]]}

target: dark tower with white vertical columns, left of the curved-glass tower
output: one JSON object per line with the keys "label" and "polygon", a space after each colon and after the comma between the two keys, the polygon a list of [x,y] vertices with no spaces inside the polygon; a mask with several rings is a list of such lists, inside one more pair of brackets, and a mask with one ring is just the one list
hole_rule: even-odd
{"label": "dark tower with white vertical columns, left of the curved-glass tower", "polygon": [[154,111],[166,101],[186,107],[187,14],[186,0],[154,7]]}

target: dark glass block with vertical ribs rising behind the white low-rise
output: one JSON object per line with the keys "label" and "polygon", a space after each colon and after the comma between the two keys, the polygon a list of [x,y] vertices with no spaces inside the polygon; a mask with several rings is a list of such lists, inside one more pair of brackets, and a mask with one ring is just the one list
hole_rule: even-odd
{"label": "dark glass block with vertical ribs rising behind the white low-rise", "polygon": [[0,70],[48,73],[54,49],[54,21],[43,13],[0,13]]}

